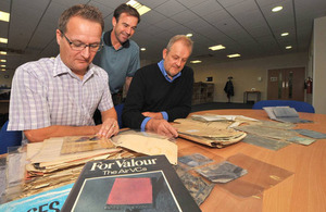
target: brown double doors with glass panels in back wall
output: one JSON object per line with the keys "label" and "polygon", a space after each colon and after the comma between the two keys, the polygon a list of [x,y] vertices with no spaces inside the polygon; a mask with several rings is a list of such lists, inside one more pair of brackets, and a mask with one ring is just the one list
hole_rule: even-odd
{"label": "brown double doors with glass panels in back wall", "polygon": [[267,100],[304,101],[304,67],[268,70]]}

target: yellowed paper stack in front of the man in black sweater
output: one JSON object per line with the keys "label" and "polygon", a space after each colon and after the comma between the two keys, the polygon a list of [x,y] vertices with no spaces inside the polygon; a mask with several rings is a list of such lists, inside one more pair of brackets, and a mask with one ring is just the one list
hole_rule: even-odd
{"label": "yellowed paper stack in front of the man in black sweater", "polygon": [[240,141],[246,133],[229,128],[233,122],[202,122],[191,119],[174,121],[179,136],[210,147],[223,148]]}

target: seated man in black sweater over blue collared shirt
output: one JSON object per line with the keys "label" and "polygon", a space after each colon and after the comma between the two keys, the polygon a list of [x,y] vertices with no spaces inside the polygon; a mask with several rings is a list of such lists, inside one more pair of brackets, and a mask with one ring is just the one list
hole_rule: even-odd
{"label": "seated man in black sweater over blue collared shirt", "polygon": [[185,66],[191,51],[190,38],[174,36],[162,61],[136,72],[123,110],[125,126],[178,136],[168,122],[186,117],[191,110],[193,72]]}

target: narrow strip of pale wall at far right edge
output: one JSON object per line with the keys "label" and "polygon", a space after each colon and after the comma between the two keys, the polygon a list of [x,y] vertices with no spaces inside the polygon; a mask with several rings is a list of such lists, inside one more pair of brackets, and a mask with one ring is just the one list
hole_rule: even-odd
{"label": "narrow strip of pale wall at far right edge", "polygon": [[313,105],[326,114],[326,16],[314,20],[313,30]]}

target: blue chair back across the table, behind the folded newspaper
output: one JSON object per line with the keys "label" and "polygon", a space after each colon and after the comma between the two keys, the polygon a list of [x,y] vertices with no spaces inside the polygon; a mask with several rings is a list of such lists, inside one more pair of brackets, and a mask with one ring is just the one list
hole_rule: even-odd
{"label": "blue chair back across the table, behind the folded newspaper", "polygon": [[305,112],[305,113],[315,113],[315,109],[310,103],[304,101],[294,101],[294,100],[262,100],[255,102],[252,109],[260,110],[264,107],[290,107],[296,109],[297,112]]}

